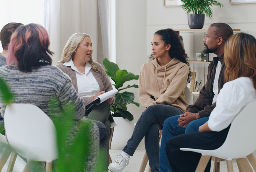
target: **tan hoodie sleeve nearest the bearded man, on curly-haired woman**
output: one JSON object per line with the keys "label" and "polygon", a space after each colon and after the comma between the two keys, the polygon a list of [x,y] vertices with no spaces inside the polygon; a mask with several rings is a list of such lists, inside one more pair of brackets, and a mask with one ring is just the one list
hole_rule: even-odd
{"label": "tan hoodie sleeve nearest the bearded man, on curly-haired woman", "polygon": [[170,105],[172,104],[184,91],[187,83],[189,67],[187,65],[181,67],[176,75],[173,77],[170,85],[163,94],[160,94],[156,101],[150,103],[151,105]]}

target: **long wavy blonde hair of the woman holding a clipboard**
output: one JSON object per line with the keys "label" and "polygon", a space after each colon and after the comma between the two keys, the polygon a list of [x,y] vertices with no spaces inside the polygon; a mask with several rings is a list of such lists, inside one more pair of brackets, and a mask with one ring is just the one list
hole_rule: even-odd
{"label": "long wavy blonde hair of the woman holding a clipboard", "polygon": [[[66,43],[60,61],[57,62],[57,64],[59,63],[65,63],[67,61],[69,61],[70,58],[73,57],[73,53],[76,51],[77,47],[79,46],[79,44],[83,41],[83,39],[88,36],[89,38],[90,35],[86,34],[86,33],[74,33],[73,35],[71,35],[71,37],[68,39],[68,42]],[[91,38],[92,39],[92,38]],[[93,58],[91,56],[89,63],[92,66],[92,69],[95,72],[100,72],[102,73],[98,68],[97,65],[94,63]]]}

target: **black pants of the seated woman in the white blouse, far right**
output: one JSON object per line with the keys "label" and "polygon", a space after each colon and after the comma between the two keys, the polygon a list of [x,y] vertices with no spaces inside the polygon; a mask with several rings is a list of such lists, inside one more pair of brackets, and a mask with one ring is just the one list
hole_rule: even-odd
{"label": "black pants of the seated woman in the white blouse, far right", "polygon": [[[180,151],[180,148],[215,150],[223,145],[230,125],[220,132],[196,132],[182,134],[169,139],[165,150],[172,172],[194,172],[201,158],[201,153]],[[209,161],[205,172],[210,172]]]}

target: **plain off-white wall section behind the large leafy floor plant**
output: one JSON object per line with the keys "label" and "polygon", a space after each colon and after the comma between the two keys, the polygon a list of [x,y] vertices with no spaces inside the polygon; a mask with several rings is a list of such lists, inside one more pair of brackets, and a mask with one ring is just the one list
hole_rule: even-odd
{"label": "plain off-white wall section behind the large leafy floor plant", "polygon": [[[147,62],[146,21],[147,1],[116,1],[116,64],[121,70],[126,69],[135,75],[139,75],[141,66]],[[138,80],[129,81],[124,86],[128,84],[138,84]],[[124,91],[133,92],[134,102],[140,103],[138,89],[129,88]],[[142,105],[138,108],[130,104],[127,110],[134,115],[134,123],[144,108]]]}

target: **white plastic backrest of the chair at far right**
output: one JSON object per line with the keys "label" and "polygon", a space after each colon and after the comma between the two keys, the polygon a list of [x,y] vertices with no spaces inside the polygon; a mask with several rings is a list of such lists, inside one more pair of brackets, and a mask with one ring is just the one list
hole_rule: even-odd
{"label": "white plastic backrest of the chair at far right", "polygon": [[218,157],[242,158],[256,149],[255,107],[256,101],[251,102],[234,118],[224,144],[213,150]]}

